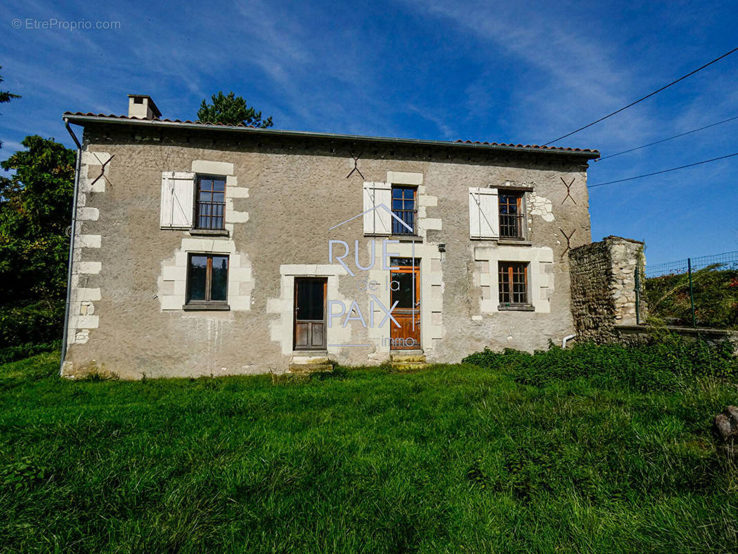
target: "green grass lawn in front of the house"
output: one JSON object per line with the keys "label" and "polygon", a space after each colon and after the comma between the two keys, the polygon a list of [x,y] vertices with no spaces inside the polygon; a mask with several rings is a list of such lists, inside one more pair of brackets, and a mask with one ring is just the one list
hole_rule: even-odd
{"label": "green grass lawn in front of the house", "polygon": [[738,550],[738,470],[710,434],[727,380],[57,371],[0,366],[0,553]]}

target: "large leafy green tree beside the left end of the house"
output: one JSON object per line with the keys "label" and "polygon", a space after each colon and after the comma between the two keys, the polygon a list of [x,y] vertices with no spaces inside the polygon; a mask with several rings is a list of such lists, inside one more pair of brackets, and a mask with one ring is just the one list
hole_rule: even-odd
{"label": "large leafy green tree beside the left end of the house", "polygon": [[0,163],[0,304],[63,298],[75,151],[30,135]]}

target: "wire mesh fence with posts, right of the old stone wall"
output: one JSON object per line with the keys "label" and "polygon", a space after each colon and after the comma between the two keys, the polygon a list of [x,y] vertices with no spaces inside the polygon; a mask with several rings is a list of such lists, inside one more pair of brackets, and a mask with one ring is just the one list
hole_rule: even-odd
{"label": "wire mesh fence with posts, right of the old stone wall", "polygon": [[738,250],[646,267],[651,315],[667,324],[738,329]]}

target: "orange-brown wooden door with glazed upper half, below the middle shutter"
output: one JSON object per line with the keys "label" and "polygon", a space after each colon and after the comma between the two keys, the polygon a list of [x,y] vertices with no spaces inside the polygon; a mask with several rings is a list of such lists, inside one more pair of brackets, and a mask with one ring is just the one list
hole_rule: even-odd
{"label": "orange-brown wooden door with glazed upper half, below the middle shutter", "polygon": [[420,349],[420,260],[393,259],[390,270],[390,306],[397,302],[392,310],[393,317],[399,326],[390,321],[390,349]]}

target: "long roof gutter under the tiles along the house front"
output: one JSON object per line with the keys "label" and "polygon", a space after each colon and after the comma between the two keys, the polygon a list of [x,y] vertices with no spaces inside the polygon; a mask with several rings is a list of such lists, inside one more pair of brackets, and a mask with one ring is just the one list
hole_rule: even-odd
{"label": "long roof gutter under the tiles along the house front", "polygon": [[144,120],[129,119],[127,117],[99,117],[95,115],[72,115],[65,114],[64,120],[71,121],[77,125],[85,123],[114,123],[118,125],[134,125],[134,126],[154,126],[159,128],[170,129],[196,129],[198,131],[235,131],[246,134],[263,134],[272,137],[294,137],[294,138],[317,138],[325,140],[352,140],[355,142],[366,143],[391,143],[401,145],[415,146],[432,146],[444,148],[466,148],[466,149],[482,149],[505,151],[508,153],[527,152],[530,154],[558,154],[568,157],[584,157],[587,160],[593,160],[600,156],[599,151],[575,151],[565,150],[563,148],[526,148],[525,146],[501,146],[492,144],[474,144],[474,143],[452,143],[448,140],[422,140],[422,139],[404,139],[392,137],[368,137],[360,134],[336,134],[336,133],[318,133],[313,131],[287,131],[282,129],[257,129],[255,127],[227,126],[227,125],[210,125],[207,123],[185,123],[177,121],[161,121],[161,120]]}

